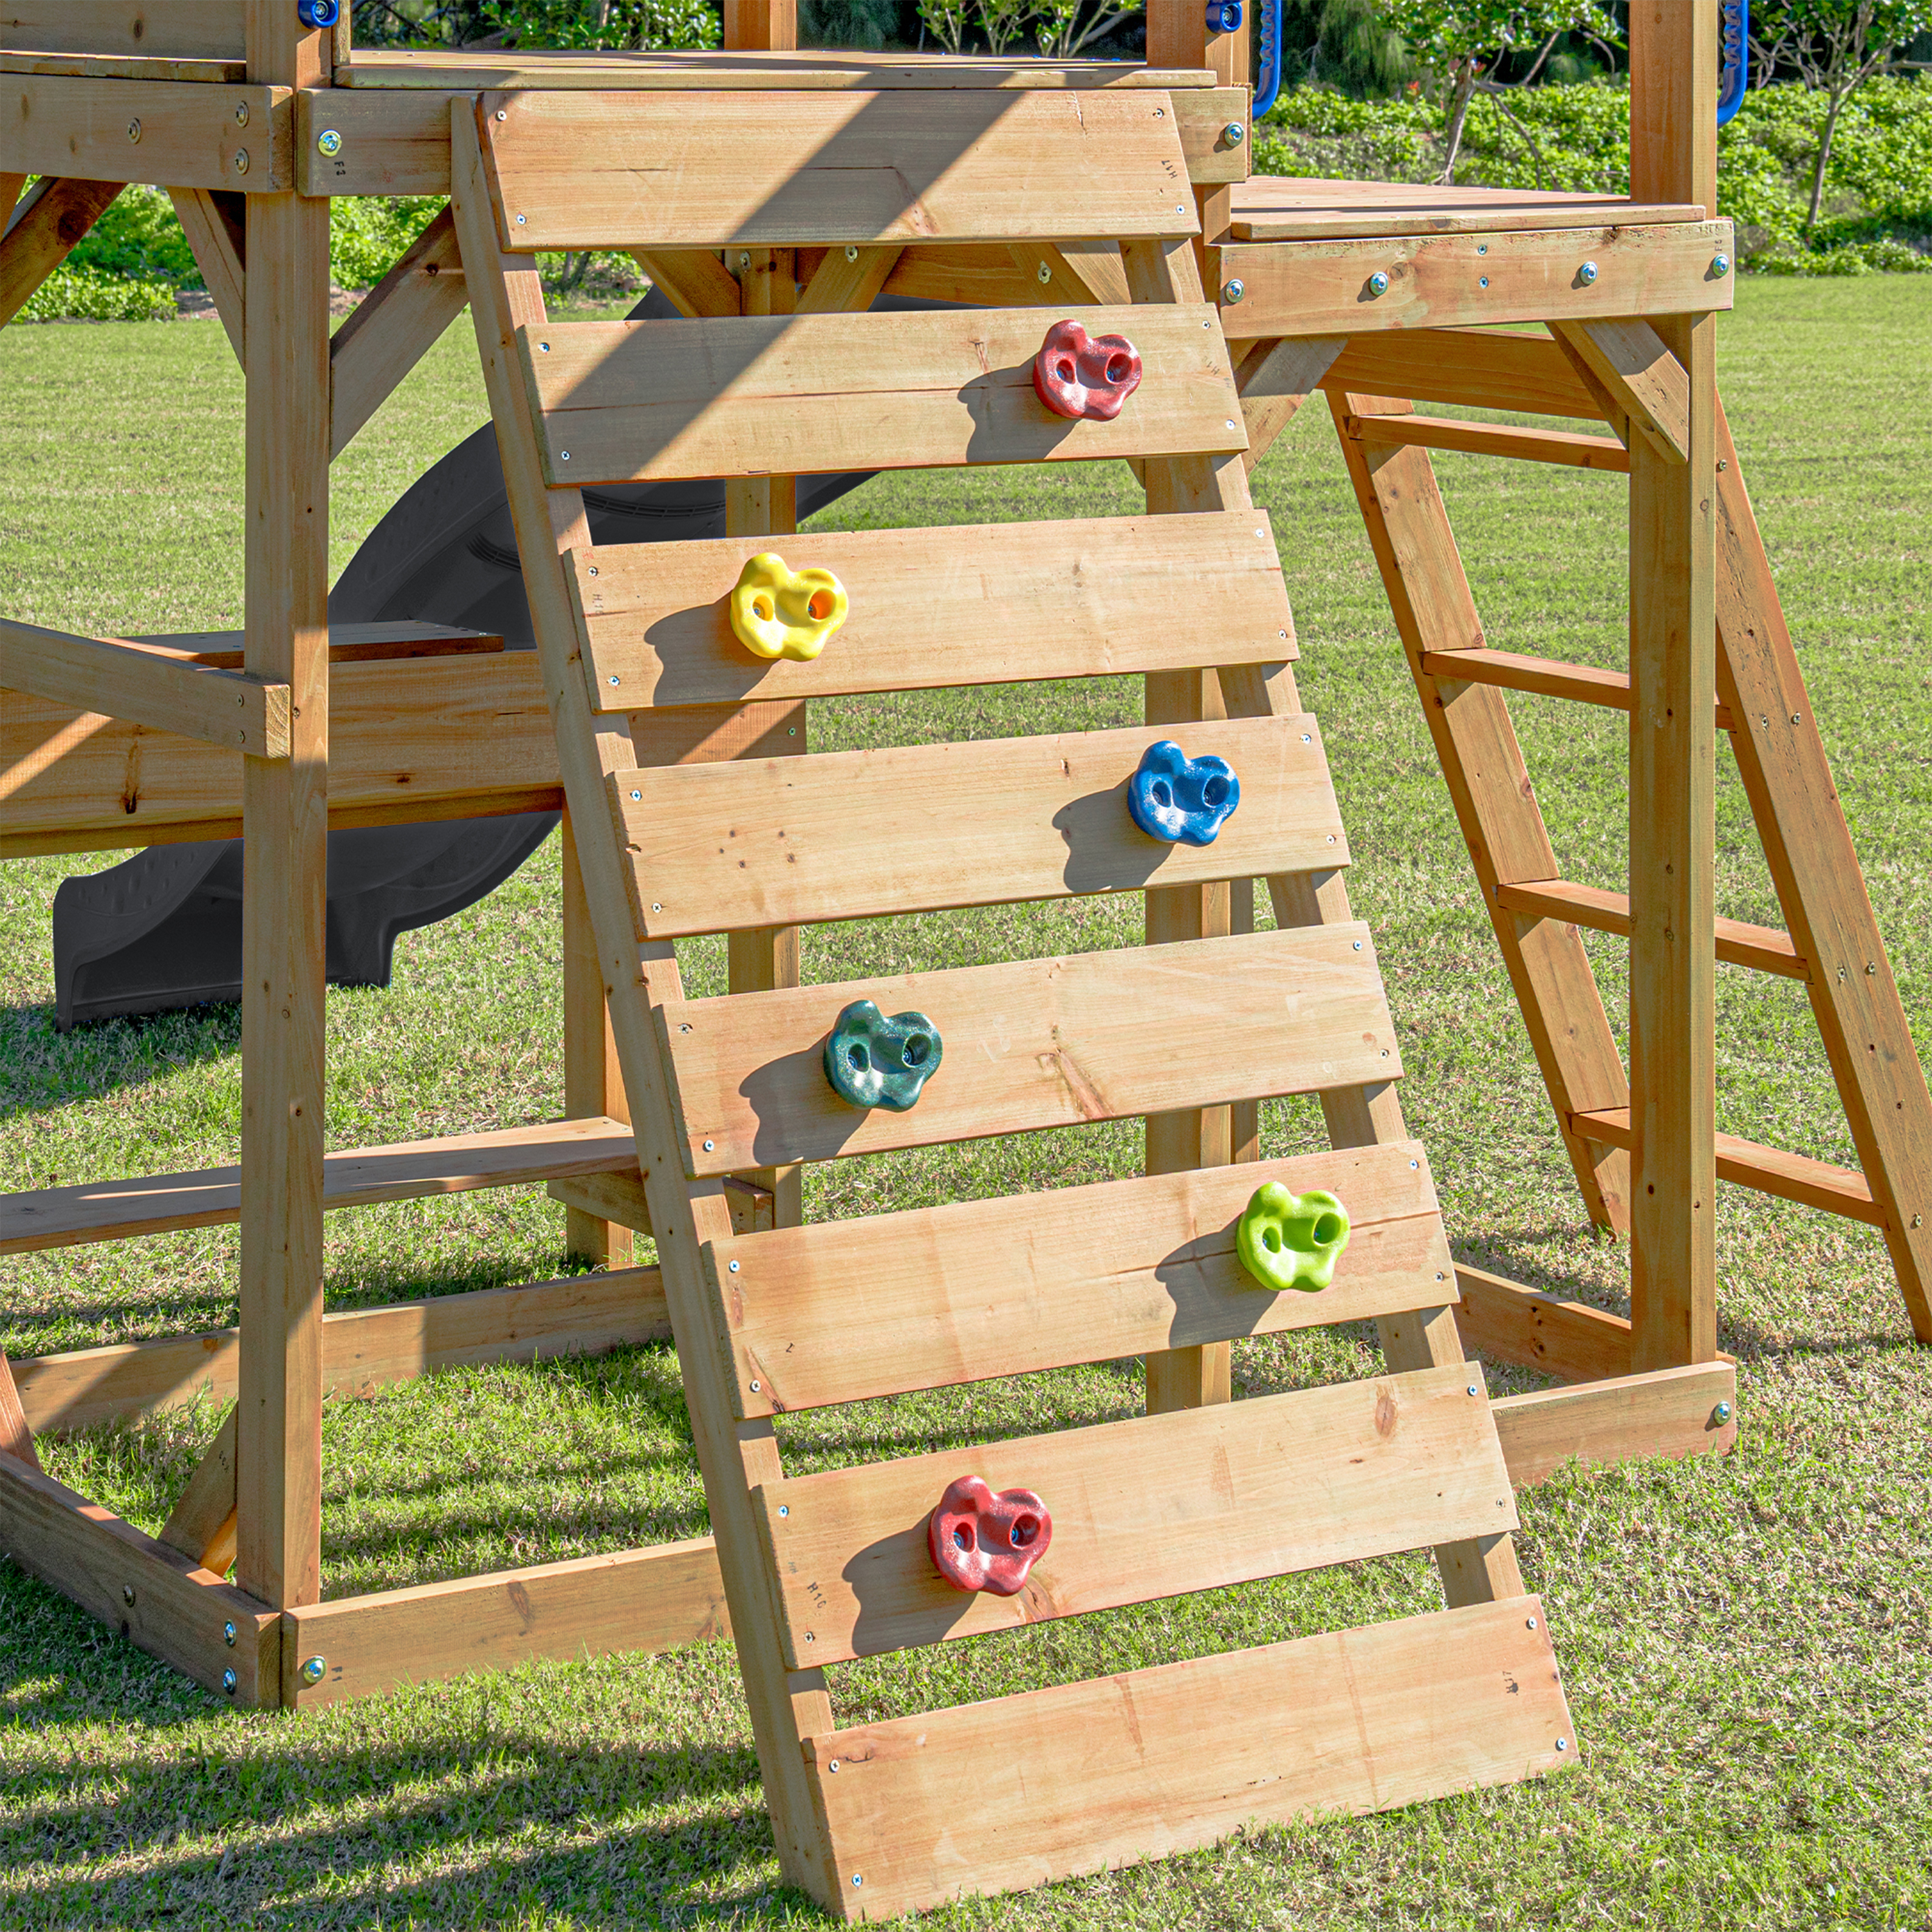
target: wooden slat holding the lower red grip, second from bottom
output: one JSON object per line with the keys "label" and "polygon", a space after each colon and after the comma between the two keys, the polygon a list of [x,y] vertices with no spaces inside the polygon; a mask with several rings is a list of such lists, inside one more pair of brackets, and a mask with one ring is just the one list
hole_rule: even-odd
{"label": "wooden slat holding the lower red grip, second from bottom", "polygon": [[[927,1519],[966,1474],[1053,1515],[1018,1596],[933,1567]],[[827,1470],[757,1505],[794,1669],[1517,1526],[1466,1366]]]}

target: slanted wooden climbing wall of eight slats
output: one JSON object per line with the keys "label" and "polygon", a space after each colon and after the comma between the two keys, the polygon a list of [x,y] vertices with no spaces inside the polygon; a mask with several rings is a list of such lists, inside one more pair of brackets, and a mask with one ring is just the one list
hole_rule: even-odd
{"label": "slanted wooden climbing wall of eight slats", "polygon": [[[889,1917],[1250,1818],[1575,1762],[1403,1130],[1374,943],[1349,914],[1167,99],[485,95],[454,104],[452,137],[643,1217],[786,1880],[846,1918]],[[800,311],[858,311],[906,242],[1068,226],[1121,240],[1130,301],[1080,317],[1144,359],[1115,421],[1041,408],[1039,309],[781,313],[792,249],[825,249]],[[531,251],[616,245],[692,319],[551,323]],[[810,661],[732,639],[728,591],[784,526],[790,471],[1121,456],[1146,466],[1146,518],[790,537],[790,562],[846,585],[848,622]],[[742,533],[589,545],[585,485],[694,475],[736,479]],[[1119,672],[1146,676],[1148,724],[769,755],[804,732],[765,721],[802,721],[815,696]],[[1126,779],[1167,736],[1240,775],[1211,846],[1155,846],[1128,821]],[[1254,877],[1275,931],[1252,931]],[[1148,947],[1063,958],[800,987],[796,947],[771,937],[1140,889]],[[721,925],[767,935],[763,958],[690,999],[676,941]],[[943,1036],[906,1113],[827,1086],[827,1030],[860,999],[916,1007]],[[1293,1092],[1321,1095],[1337,1151],[1269,1179],[1331,1188],[1354,1215],[1318,1294],[1271,1294],[1233,1252],[1262,1179],[1242,1165],[1254,1105]],[[1136,1115],[1138,1179],[746,1235],[726,1209],[734,1175]],[[1233,1337],[1368,1318],[1387,1374],[1229,1401]],[[1142,1416],[813,1476],[781,1461],[784,1412],[1132,1354]],[[1055,1513],[1020,1596],[962,1596],[933,1571],[927,1515],[968,1472]],[[1422,1548],[1449,1605],[1434,1615],[877,1723],[833,1710],[827,1671],[860,1656]],[[983,1830],[989,1791],[1007,1808]]]}

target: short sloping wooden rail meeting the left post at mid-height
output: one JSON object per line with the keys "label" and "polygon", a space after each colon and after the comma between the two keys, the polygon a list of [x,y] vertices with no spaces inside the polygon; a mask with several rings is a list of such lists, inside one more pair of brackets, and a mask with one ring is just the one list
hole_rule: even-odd
{"label": "short sloping wooden rail meeting the left post at mid-height", "polygon": [[0,684],[56,705],[129,719],[257,759],[290,755],[290,692],[245,670],[116,638],[0,618]]}

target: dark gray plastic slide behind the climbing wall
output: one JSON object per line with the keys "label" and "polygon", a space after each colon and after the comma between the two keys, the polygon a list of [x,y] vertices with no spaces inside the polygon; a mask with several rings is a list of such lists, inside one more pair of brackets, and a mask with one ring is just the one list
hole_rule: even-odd
{"label": "dark gray plastic slide behind the climbing wall", "polygon": [[[674,311],[653,290],[632,313],[657,321]],[[798,514],[864,481],[864,471],[800,477]],[[589,489],[583,504],[593,543],[724,535],[724,485],[715,481]],[[485,423],[404,493],[342,572],[328,616],[336,624],[450,624],[493,632],[512,651],[533,649],[495,429]],[[489,746],[477,746],[477,755],[487,757]],[[553,825],[554,811],[526,811],[330,833],[330,985],[388,985],[398,933],[473,906]],[[60,1032],[240,997],[240,838],[151,846],[122,866],[66,879],[54,895]]]}

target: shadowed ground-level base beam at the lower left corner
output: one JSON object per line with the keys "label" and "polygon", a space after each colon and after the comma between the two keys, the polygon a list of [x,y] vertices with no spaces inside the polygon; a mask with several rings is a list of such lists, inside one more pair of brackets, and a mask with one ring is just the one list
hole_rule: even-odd
{"label": "shadowed ground-level base beam at the lower left corner", "polygon": [[[238,1710],[282,1702],[282,1629],[267,1604],[6,1453],[0,1549]],[[230,1623],[232,1644],[224,1634]],[[222,1683],[224,1671],[234,1671],[234,1690]]]}

